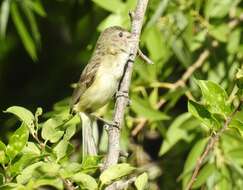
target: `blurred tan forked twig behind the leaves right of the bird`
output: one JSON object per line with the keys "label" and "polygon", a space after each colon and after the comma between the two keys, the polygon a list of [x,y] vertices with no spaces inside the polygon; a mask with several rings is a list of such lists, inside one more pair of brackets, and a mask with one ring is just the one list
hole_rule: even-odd
{"label": "blurred tan forked twig behind the leaves right of the bird", "polygon": [[[205,62],[205,60],[209,57],[210,53],[208,49],[205,49],[199,56],[199,58],[196,60],[196,62],[194,64],[192,64],[187,70],[186,72],[182,75],[182,77],[177,80],[175,83],[169,83],[169,82],[161,82],[161,83],[156,83],[154,86],[155,87],[159,87],[159,88],[168,88],[171,90],[175,90],[179,87],[184,87],[186,86],[186,82],[187,80],[191,77],[191,75],[198,69],[200,68],[203,63]],[[190,91],[186,91],[185,95],[189,98],[189,99],[193,99],[193,96],[191,95]],[[165,99],[161,99],[158,103],[157,103],[157,109],[161,108],[164,104],[166,103]],[[133,129],[132,131],[132,135],[136,136],[138,134],[139,131],[141,131],[143,129],[143,127],[145,126],[145,124],[147,123],[147,119],[143,119],[141,120],[136,127]]]}

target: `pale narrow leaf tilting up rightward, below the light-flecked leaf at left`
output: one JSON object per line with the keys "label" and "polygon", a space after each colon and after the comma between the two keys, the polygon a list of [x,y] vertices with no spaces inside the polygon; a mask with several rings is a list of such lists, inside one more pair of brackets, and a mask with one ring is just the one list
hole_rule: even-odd
{"label": "pale narrow leaf tilting up rightward, below the light-flecked leaf at left", "polygon": [[36,168],[40,167],[44,162],[36,162],[26,167],[20,175],[17,176],[17,182],[20,184],[26,184],[32,177]]}

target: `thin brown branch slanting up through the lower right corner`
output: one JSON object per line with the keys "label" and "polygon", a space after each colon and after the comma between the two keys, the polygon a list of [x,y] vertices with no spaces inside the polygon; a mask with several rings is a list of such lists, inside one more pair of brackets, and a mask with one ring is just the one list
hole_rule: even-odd
{"label": "thin brown branch slanting up through the lower right corner", "polygon": [[195,169],[193,171],[192,177],[190,179],[190,181],[188,182],[187,186],[186,186],[186,190],[190,190],[192,188],[192,185],[194,183],[194,181],[196,180],[196,177],[198,175],[198,172],[203,164],[203,161],[205,160],[206,156],[210,153],[210,151],[214,148],[215,143],[218,141],[219,137],[221,137],[221,135],[223,134],[223,132],[227,129],[227,127],[229,126],[230,122],[232,121],[232,118],[234,117],[234,115],[237,113],[238,109],[240,108],[240,104],[239,106],[235,109],[234,112],[232,112],[225,120],[224,126],[214,135],[212,135],[208,141],[208,144],[204,150],[204,152],[202,153],[202,155],[198,158]]}

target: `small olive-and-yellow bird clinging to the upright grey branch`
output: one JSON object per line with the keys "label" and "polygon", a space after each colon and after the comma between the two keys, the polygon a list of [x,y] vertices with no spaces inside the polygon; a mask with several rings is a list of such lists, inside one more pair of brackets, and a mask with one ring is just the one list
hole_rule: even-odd
{"label": "small olive-and-yellow bird clinging to the upright grey branch", "polygon": [[83,156],[97,155],[90,114],[107,104],[118,90],[130,44],[131,33],[127,30],[119,26],[105,29],[73,92],[71,113],[81,116]]}

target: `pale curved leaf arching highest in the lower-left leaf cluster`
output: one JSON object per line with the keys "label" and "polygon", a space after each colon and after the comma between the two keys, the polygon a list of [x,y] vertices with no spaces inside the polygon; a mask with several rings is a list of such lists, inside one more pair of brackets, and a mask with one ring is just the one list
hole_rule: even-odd
{"label": "pale curved leaf arching highest in the lower-left leaf cluster", "polygon": [[23,121],[29,127],[31,132],[34,131],[34,128],[35,128],[35,124],[34,124],[35,117],[26,108],[23,108],[21,106],[12,106],[12,107],[8,108],[5,111],[5,113],[12,113],[12,114],[16,115],[21,121]]}

